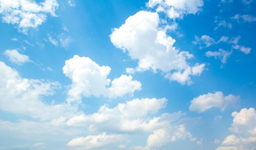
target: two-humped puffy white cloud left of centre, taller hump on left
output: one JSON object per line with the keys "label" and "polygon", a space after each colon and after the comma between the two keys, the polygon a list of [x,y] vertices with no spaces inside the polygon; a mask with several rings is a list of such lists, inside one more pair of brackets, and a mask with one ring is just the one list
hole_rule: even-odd
{"label": "two-humped puffy white cloud left of centre, taller hump on left", "polygon": [[63,73],[72,80],[71,89],[68,91],[67,101],[81,101],[81,96],[106,96],[115,98],[125,94],[133,94],[135,90],[141,90],[139,81],[132,81],[132,76],[121,75],[115,78],[110,85],[107,76],[111,68],[99,66],[88,57],[73,58],[65,61]]}

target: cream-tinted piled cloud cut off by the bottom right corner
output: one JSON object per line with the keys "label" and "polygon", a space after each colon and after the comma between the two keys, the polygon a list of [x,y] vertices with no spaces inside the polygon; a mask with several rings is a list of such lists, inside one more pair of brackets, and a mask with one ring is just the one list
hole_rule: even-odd
{"label": "cream-tinted piled cloud cut off by the bottom right corner", "polygon": [[216,150],[253,150],[256,147],[256,111],[243,108],[233,112],[233,123],[229,130],[231,135],[222,141]]}

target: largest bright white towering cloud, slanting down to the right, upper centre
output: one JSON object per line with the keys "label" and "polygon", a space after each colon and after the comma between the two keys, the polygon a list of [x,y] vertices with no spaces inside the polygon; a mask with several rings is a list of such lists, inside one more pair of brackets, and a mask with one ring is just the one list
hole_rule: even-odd
{"label": "largest bright white towering cloud, slanting down to the right, upper centre", "polygon": [[[110,35],[115,47],[128,51],[128,55],[139,60],[138,67],[127,68],[126,72],[142,72],[148,69],[166,74],[166,78],[182,84],[191,83],[189,76],[194,75],[186,59],[193,55],[173,47],[175,40],[166,35],[166,29],[159,29],[157,13],[139,11],[126,19],[124,25],[115,28]],[[204,64],[197,64],[202,72]],[[192,66],[193,67],[193,66]],[[196,75],[200,75],[198,72]],[[173,76],[172,76],[173,75]],[[181,79],[182,78],[182,79]]]}

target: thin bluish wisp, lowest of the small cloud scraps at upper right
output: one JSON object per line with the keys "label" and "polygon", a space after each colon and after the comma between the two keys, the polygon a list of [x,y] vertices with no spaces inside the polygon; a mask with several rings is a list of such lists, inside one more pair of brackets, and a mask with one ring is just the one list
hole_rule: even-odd
{"label": "thin bluish wisp, lowest of the small cloud scraps at upper right", "polygon": [[207,51],[205,55],[207,57],[214,57],[215,59],[220,59],[222,63],[227,63],[227,58],[232,54],[231,51],[225,51],[224,49],[219,49],[219,51]]}

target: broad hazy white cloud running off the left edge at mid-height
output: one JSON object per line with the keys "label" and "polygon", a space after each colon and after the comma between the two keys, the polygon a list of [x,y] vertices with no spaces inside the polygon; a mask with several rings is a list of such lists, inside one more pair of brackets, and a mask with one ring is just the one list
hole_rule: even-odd
{"label": "broad hazy white cloud running off the left edge at mid-height", "polygon": [[76,107],[65,103],[50,105],[43,96],[54,94],[58,82],[21,78],[18,72],[0,62],[0,109],[39,118],[54,119],[75,115]]}

